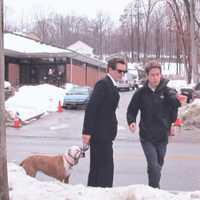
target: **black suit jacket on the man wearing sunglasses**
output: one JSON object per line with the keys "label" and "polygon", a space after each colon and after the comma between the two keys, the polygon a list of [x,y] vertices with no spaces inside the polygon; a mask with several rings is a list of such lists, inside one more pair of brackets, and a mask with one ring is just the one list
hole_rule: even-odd
{"label": "black suit jacket on the man wearing sunglasses", "polygon": [[87,105],[83,134],[91,135],[90,142],[112,142],[117,134],[116,108],[119,93],[111,79],[99,80]]}

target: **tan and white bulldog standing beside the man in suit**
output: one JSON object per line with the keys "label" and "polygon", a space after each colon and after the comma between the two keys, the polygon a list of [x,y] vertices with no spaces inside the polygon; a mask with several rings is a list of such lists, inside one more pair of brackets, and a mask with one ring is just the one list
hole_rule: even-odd
{"label": "tan and white bulldog standing beside the man in suit", "polygon": [[22,166],[26,174],[35,177],[38,171],[56,178],[57,180],[69,183],[71,170],[80,158],[85,157],[88,147],[71,146],[64,155],[32,155],[24,159]]}

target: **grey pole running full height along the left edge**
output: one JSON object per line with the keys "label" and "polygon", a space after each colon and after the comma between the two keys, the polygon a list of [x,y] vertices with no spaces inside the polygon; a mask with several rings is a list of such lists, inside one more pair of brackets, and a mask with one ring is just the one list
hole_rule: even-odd
{"label": "grey pole running full height along the left edge", "polygon": [[9,200],[4,102],[3,0],[0,0],[0,200]]}

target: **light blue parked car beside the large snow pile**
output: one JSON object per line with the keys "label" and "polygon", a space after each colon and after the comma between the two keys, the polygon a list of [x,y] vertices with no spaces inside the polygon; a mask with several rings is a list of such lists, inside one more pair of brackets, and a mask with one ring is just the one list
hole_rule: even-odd
{"label": "light blue parked car beside the large snow pile", "polygon": [[91,87],[72,87],[64,96],[63,107],[85,109],[91,94]]}

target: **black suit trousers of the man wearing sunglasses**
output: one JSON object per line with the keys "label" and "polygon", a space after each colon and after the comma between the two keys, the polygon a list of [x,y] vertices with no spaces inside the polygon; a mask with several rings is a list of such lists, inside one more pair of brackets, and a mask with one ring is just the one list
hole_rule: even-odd
{"label": "black suit trousers of the man wearing sunglasses", "polygon": [[90,171],[88,186],[112,187],[113,185],[113,148],[112,142],[90,144]]}

